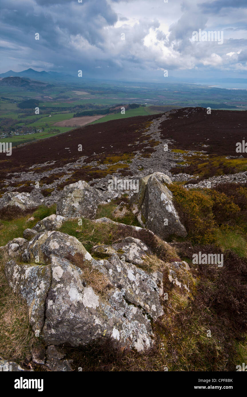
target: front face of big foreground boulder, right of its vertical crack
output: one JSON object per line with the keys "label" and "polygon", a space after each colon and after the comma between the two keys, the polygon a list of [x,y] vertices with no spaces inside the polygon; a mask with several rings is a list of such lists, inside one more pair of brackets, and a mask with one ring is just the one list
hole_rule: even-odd
{"label": "front face of big foreground boulder, right of its vertical crack", "polygon": [[84,286],[83,270],[61,258],[53,257],[52,273],[41,333],[45,343],[80,346],[111,337],[117,345],[139,351],[152,345],[150,320],[124,300],[124,291],[95,292],[90,285]]}

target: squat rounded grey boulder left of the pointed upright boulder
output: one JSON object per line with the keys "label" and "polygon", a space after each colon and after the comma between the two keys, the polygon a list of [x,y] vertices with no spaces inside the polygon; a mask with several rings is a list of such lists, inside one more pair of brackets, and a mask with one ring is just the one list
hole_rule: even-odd
{"label": "squat rounded grey boulder left of the pointed upright boulder", "polygon": [[95,218],[99,204],[106,204],[103,193],[79,181],[64,187],[58,199],[56,214],[66,218]]}

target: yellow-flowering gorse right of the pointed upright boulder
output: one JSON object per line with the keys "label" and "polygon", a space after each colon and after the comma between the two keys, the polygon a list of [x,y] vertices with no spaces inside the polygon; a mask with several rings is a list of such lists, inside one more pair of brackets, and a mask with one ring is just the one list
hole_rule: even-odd
{"label": "yellow-flowering gorse right of the pointed upright boulder", "polygon": [[[218,185],[216,189],[187,190],[170,185],[187,239],[193,244],[218,243],[245,256],[247,245],[247,188],[234,183]],[[233,244],[231,246],[231,244]]]}

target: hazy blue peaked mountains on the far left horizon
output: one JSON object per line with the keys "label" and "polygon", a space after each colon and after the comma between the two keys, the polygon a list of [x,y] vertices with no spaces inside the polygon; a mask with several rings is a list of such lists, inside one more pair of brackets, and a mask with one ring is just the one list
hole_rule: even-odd
{"label": "hazy blue peaked mountains on the far left horizon", "polygon": [[14,72],[13,70],[9,70],[6,73],[1,73],[0,77],[28,77],[30,79],[38,79],[39,81],[73,81],[76,80],[76,76],[72,76],[69,74],[58,73],[58,72],[46,72],[45,70],[38,72],[37,70],[29,69],[23,70],[21,72]]}

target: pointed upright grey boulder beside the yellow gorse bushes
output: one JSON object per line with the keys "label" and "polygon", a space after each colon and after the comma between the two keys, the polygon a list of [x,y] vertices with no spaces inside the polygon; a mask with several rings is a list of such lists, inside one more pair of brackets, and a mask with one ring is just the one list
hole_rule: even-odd
{"label": "pointed upright grey boulder beside the yellow gorse bushes", "polygon": [[140,180],[139,193],[131,197],[130,209],[143,227],[152,230],[162,239],[169,235],[185,237],[187,231],[179,220],[173,195],[162,182],[169,182],[169,177],[158,174],[154,173]]}

